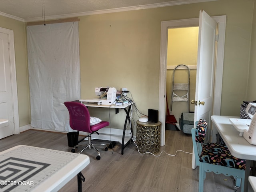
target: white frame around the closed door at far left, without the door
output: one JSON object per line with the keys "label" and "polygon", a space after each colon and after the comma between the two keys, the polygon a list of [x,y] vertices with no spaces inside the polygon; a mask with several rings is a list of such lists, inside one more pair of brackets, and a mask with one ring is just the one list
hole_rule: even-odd
{"label": "white frame around the closed door at far left, without the door", "polygon": [[14,134],[20,133],[19,111],[18,111],[18,91],[16,79],[16,63],[14,50],[14,32],[13,30],[0,27],[0,32],[8,35],[9,40],[9,57],[10,57],[10,73],[12,84],[12,107],[14,117]]}

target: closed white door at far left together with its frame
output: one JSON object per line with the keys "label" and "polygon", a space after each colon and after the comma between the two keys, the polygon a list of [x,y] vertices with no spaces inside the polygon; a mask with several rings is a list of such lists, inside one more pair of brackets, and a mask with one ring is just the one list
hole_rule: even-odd
{"label": "closed white door at far left together with its frame", "polygon": [[0,28],[0,138],[19,134],[18,93],[16,83],[16,67],[13,30]]}

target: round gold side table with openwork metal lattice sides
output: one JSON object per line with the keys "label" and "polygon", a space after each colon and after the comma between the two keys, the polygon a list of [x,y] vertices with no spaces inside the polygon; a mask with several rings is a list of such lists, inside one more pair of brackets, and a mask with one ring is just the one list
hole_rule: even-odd
{"label": "round gold side table with openwork metal lattice sides", "polygon": [[136,123],[136,143],[138,145],[139,152],[150,152],[153,154],[159,152],[161,122],[158,121],[157,123],[144,123],[136,121]]}

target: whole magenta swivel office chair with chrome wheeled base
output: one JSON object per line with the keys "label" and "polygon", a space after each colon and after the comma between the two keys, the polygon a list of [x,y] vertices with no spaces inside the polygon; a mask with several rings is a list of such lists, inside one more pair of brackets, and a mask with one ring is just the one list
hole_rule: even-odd
{"label": "whole magenta swivel office chair with chrome wheeled base", "polygon": [[[64,102],[64,104],[68,108],[70,127],[73,130],[77,130],[78,133],[79,133],[79,131],[89,133],[89,135],[88,135],[89,143],[79,153],[82,153],[86,148],[89,148],[89,149],[93,148],[94,150],[96,150],[98,152],[98,156],[96,157],[96,159],[100,160],[100,152],[98,151],[97,148],[94,147],[94,145],[104,145],[105,151],[108,150],[108,147],[106,146],[106,144],[92,144],[91,134],[94,132],[96,132],[98,134],[97,131],[100,130],[101,128],[108,126],[109,122],[102,121],[98,124],[90,126],[90,113],[84,104],[78,103],[78,102]],[[76,151],[75,148],[77,148],[78,146],[85,146],[85,145],[76,145],[71,150],[71,152],[75,152]]]}

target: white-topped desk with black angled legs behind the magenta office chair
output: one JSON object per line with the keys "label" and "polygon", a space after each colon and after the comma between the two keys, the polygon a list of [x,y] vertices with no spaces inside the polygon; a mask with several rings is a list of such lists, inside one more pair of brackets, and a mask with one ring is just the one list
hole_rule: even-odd
{"label": "white-topped desk with black angled legs behind the magenta office chair", "polygon": [[[122,134],[122,151],[121,154],[124,154],[124,148],[127,146],[127,144],[129,143],[129,141],[131,140],[131,137],[127,138],[126,137],[126,125],[127,122],[129,124],[131,124],[131,120],[130,120],[130,110],[131,110],[131,106],[133,104],[133,102],[128,102],[128,103],[124,103],[122,105],[99,105],[97,103],[91,103],[91,102],[84,102],[84,100],[79,100],[79,102],[83,103],[86,107],[96,107],[96,108],[114,108],[116,110],[116,114],[119,113],[119,109],[123,109],[126,112],[126,118],[124,121],[124,129],[123,129],[123,134]],[[104,129],[104,128],[103,128]],[[103,130],[102,129],[102,130]],[[132,132],[132,128],[131,128],[131,132]],[[99,130],[99,133],[100,130]],[[103,134],[106,134],[106,132]],[[100,136],[95,135],[98,139],[101,139]],[[108,137],[109,138],[109,137]],[[113,139],[114,137],[111,136],[111,138]],[[106,137],[102,137],[102,140],[106,140]]]}

